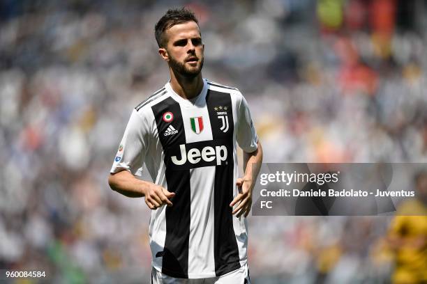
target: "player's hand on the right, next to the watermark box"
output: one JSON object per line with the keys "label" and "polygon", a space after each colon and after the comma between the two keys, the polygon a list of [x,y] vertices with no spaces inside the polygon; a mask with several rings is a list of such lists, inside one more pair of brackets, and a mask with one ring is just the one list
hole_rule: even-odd
{"label": "player's hand on the right, next to the watermark box", "polygon": [[246,217],[252,207],[252,179],[248,177],[238,178],[236,185],[239,187],[239,194],[232,200],[230,207],[233,207],[237,203],[239,203],[239,205],[233,210],[232,214],[237,213],[237,218],[242,214],[245,214]]}

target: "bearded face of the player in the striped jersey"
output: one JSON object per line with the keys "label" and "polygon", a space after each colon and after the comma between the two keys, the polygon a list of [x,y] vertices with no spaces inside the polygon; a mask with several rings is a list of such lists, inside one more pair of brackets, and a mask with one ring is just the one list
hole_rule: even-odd
{"label": "bearded face of the player in the striped jersey", "polygon": [[[193,21],[176,24],[165,31],[167,57],[162,54],[172,70],[183,77],[194,78],[203,66],[202,37],[199,27]],[[161,50],[161,48],[160,48]]]}

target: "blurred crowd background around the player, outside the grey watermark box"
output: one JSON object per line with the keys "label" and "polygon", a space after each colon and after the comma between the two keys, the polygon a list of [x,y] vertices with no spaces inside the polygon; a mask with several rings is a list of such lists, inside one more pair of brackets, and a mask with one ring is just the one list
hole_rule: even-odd
{"label": "blurred crowd background around the player, outside the grey watermark box", "polygon": [[[204,77],[244,93],[265,162],[427,161],[424,0],[1,0],[0,269],[149,283],[149,210],[107,176],[130,112],[169,79],[154,24],[184,5]],[[251,279],[423,283],[426,217],[413,220],[250,216]]]}

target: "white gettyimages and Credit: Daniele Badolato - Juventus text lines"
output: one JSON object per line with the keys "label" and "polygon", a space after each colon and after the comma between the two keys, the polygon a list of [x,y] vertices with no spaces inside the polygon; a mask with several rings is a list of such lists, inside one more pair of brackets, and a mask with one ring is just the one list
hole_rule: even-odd
{"label": "white gettyimages and Credit: Daniele Badolato - Juventus text lines", "polygon": [[[276,183],[284,184],[291,187],[290,184],[307,184],[315,183],[319,186],[324,184],[335,184],[338,182],[340,172],[336,173],[262,173],[260,174],[260,184],[265,187],[267,184]],[[277,188],[277,187],[276,187]],[[311,188],[308,190],[301,189],[261,189],[260,195],[262,197],[414,197],[414,191],[387,191],[387,190],[364,190],[364,189],[318,189]]]}

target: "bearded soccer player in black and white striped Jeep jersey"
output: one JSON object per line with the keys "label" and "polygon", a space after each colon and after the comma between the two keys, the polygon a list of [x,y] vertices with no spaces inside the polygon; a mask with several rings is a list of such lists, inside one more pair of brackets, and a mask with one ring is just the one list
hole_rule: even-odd
{"label": "bearded soccer player in black and white striped Jeep jersey", "polygon": [[[192,11],[168,10],[155,30],[170,81],[133,110],[110,187],[144,196],[153,210],[152,283],[250,283],[246,216],[262,148],[248,104],[237,88],[203,79],[204,44]],[[154,183],[137,178],[144,163]]]}

